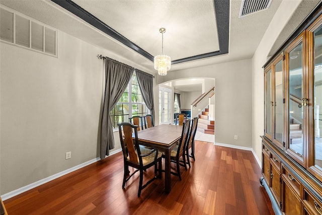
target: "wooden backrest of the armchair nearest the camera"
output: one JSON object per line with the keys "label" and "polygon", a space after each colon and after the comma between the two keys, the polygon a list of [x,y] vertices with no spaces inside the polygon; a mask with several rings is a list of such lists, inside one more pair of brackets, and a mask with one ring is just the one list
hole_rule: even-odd
{"label": "wooden backrest of the armchair nearest the camera", "polygon": [[[140,159],[137,156],[141,154],[138,139],[137,139],[138,126],[128,122],[118,123],[117,125],[119,126],[120,141],[121,141],[121,147],[122,147],[124,159],[129,160],[133,163],[139,164],[139,162],[142,162],[142,161],[139,161]],[[122,133],[122,127],[123,127],[124,134]],[[134,130],[134,136],[135,136],[134,141],[132,138],[132,129]],[[127,159],[127,157],[129,157],[129,159]]]}

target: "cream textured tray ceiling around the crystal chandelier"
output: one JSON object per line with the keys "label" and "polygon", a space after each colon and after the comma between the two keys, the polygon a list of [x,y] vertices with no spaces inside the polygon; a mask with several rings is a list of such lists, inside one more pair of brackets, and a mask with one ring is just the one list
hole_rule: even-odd
{"label": "cream textured tray ceiling around the crystal chandelier", "polygon": [[[60,2],[71,3],[70,1]],[[74,4],[101,20],[103,25],[111,27],[139,49],[144,50],[146,54],[124,45],[123,42],[55,2],[2,0],[0,3],[67,34],[102,47],[108,50],[107,53],[111,53],[112,58],[150,72],[155,72],[151,56],[161,52],[162,38],[158,29],[165,27],[167,32],[164,34],[164,53],[170,55],[175,62],[179,60],[172,65],[170,72],[174,72],[185,68],[251,58],[281,1],[272,1],[267,10],[239,18],[241,0],[74,0]],[[218,17],[221,16],[227,17],[229,22],[223,22],[224,19],[218,21]],[[226,44],[224,48],[220,41],[226,41],[223,43]],[[218,52],[224,54],[203,56]],[[190,58],[200,55],[201,58]],[[187,61],[186,58],[189,60]],[[180,61],[181,59],[183,60]]]}

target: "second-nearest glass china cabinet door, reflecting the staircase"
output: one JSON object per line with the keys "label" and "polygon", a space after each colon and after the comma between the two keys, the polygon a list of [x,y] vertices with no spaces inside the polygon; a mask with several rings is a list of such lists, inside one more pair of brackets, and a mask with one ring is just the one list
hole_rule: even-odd
{"label": "second-nearest glass china cabinet door, reflecting the staircase", "polygon": [[307,97],[305,97],[305,81],[303,68],[303,37],[302,33],[285,51],[286,73],[288,82],[288,141],[286,152],[294,160],[305,167],[305,118]]}

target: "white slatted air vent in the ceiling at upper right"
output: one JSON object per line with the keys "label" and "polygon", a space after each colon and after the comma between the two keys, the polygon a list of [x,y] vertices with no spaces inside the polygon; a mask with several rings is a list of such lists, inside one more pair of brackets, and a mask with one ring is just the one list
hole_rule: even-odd
{"label": "white slatted air vent in the ceiling at upper right", "polygon": [[239,17],[244,17],[268,9],[272,0],[243,0],[240,6]]}

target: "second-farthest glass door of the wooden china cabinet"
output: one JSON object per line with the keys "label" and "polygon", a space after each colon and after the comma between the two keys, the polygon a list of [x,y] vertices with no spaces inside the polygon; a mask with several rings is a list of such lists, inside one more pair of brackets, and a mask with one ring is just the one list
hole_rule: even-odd
{"label": "second-farthest glass door of the wooden china cabinet", "polygon": [[283,149],[283,56],[273,62],[273,136],[275,145]]}

